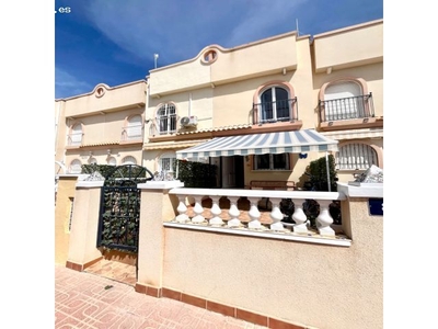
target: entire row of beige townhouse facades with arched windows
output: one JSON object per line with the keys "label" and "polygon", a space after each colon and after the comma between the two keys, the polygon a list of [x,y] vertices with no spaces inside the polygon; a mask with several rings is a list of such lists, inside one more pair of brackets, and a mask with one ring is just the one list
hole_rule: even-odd
{"label": "entire row of beige townhouse facades with arched windows", "polygon": [[[290,32],[233,48],[210,45],[150,70],[146,80],[101,83],[56,100],[55,118],[55,174],[79,173],[84,163],[170,171],[176,159],[192,160],[185,150],[214,138],[306,139],[293,133],[314,132],[338,141],[328,152],[338,180],[348,182],[371,164],[383,168],[383,21],[314,36]],[[274,144],[267,140],[265,148]],[[240,148],[244,141],[233,143]],[[195,160],[217,164],[216,188],[243,189],[252,181],[300,188],[310,161],[324,156],[247,147],[212,148]]]}

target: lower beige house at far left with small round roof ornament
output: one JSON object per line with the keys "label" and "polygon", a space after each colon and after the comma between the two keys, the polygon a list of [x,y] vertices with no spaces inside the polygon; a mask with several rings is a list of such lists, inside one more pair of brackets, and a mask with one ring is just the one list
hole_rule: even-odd
{"label": "lower beige house at far left with small round roof ornament", "polygon": [[56,100],[55,174],[77,174],[89,163],[141,164],[146,86],[100,83],[90,93]]}

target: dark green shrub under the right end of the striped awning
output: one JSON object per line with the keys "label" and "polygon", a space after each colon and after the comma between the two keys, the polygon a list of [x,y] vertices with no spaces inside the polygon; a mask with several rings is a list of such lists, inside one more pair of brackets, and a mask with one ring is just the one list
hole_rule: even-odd
{"label": "dark green shrub under the right end of the striped awning", "polygon": [[[315,191],[328,191],[325,156],[310,162],[308,172],[310,173],[310,183],[315,188]],[[328,155],[328,172],[332,192],[336,192],[337,172],[335,169],[335,158],[333,155]]]}

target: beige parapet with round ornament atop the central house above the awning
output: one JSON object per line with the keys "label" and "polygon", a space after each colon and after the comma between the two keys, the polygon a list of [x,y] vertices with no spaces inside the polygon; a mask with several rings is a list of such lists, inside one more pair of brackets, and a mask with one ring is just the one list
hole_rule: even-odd
{"label": "beige parapet with round ornament atop the central house above the awning", "polygon": [[[295,39],[293,32],[234,48],[207,46],[193,59],[151,70],[149,95],[163,97],[211,87],[211,83],[216,87],[226,82],[280,72],[284,68],[293,70],[298,63]],[[217,53],[217,59],[206,64],[203,60],[204,54],[211,49]]]}

